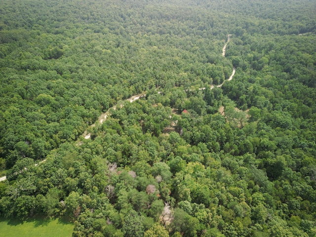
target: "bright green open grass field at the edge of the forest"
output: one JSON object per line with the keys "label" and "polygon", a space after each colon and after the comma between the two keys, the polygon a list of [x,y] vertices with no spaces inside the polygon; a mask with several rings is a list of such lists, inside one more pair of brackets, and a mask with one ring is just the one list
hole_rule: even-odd
{"label": "bright green open grass field at the edge of the forest", "polygon": [[63,219],[0,219],[0,237],[71,237],[74,224]]}

